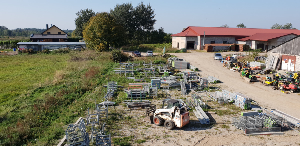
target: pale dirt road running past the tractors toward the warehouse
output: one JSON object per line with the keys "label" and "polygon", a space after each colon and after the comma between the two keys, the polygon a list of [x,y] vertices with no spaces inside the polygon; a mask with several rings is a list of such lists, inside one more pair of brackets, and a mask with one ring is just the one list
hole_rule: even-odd
{"label": "pale dirt road running past the tractors toward the warehouse", "polygon": [[[278,109],[294,117],[300,118],[300,96],[296,93],[284,94],[271,87],[265,87],[256,83],[248,83],[240,77],[239,73],[230,71],[222,66],[222,63],[213,59],[214,53],[171,53],[182,58],[199,68],[200,75],[212,75],[220,79],[221,89],[232,92],[240,92],[251,97],[260,106],[268,109]],[[221,53],[222,56],[231,52]]]}

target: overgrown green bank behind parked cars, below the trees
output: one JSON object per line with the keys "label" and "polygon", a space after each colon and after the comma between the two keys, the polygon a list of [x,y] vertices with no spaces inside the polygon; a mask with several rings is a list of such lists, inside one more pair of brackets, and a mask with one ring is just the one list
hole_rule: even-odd
{"label": "overgrown green bank behind parked cars, below the trees", "polygon": [[135,45],[135,46],[123,46],[123,50],[129,50],[129,51],[134,51],[134,50],[139,50],[141,52],[146,52],[148,50],[153,51],[154,53],[163,53],[163,48],[166,46],[166,51],[165,53],[180,53],[181,51],[178,50],[177,48],[172,48],[171,43],[165,43],[165,44],[140,44],[140,45]]}

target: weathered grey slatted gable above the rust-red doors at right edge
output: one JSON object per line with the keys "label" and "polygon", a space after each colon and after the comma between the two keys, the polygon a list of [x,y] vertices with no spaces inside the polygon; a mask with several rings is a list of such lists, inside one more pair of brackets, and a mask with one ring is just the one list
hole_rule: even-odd
{"label": "weathered grey slatted gable above the rust-red doors at right edge", "polygon": [[280,44],[268,52],[300,55],[300,37],[298,36],[283,44]]}

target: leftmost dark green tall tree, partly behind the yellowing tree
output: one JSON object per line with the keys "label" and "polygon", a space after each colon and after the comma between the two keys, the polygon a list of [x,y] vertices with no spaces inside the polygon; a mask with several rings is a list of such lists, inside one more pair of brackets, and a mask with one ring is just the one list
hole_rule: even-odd
{"label": "leftmost dark green tall tree, partly behind the yellowing tree", "polygon": [[81,9],[76,13],[77,18],[75,18],[76,29],[72,33],[72,37],[82,37],[83,26],[90,20],[91,17],[95,16],[95,12],[92,9],[86,8]]}

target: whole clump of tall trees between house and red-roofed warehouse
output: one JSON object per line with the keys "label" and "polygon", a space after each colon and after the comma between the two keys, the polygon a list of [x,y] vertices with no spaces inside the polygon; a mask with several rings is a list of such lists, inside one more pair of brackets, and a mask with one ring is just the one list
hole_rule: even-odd
{"label": "whole clump of tall trees between house and red-roofed warehouse", "polygon": [[154,30],[155,14],[151,5],[143,2],[136,7],[131,2],[116,4],[109,12],[95,13],[82,9],[76,13],[76,29],[72,37],[83,37],[87,47],[105,50],[122,45],[157,44],[172,41],[164,28]]}

